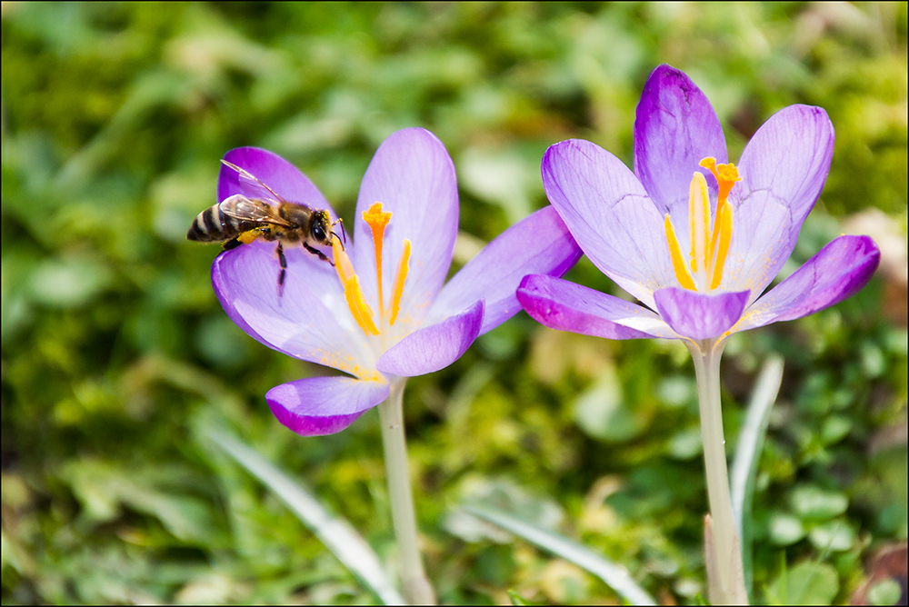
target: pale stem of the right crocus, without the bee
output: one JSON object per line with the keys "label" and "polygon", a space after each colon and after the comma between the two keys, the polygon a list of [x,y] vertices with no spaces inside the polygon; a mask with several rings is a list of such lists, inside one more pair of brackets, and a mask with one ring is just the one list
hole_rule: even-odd
{"label": "pale stem of the right crocus, without the bee", "polygon": [[742,549],[729,497],[723,411],[720,407],[720,356],[723,347],[723,343],[715,340],[688,344],[697,378],[707,500],[710,503],[710,517],[705,525],[707,585],[710,601],[714,604],[744,605],[748,603],[748,595],[744,590]]}

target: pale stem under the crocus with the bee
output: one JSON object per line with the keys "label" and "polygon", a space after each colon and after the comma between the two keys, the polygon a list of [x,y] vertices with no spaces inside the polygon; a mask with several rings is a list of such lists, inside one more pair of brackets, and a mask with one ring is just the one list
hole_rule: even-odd
{"label": "pale stem under the crocus with the bee", "polygon": [[426,579],[417,543],[414,495],[410,488],[404,434],[404,386],[404,380],[392,383],[388,398],[379,405],[385,473],[388,476],[388,494],[392,503],[392,522],[401,559],[405,599],[412,605],[435,605],[435,592]]}

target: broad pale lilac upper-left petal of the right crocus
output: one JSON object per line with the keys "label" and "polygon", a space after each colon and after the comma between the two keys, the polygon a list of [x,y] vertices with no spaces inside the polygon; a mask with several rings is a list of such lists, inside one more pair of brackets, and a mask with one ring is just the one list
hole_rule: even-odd
{"label": "broad pale lilac upper-left petal of the right crocus", "polygon": [[584,254],[625,291],[654,308],[654,291],[678,284],[664,215],[613,154],[581,139],[554,144],[543,185]]}

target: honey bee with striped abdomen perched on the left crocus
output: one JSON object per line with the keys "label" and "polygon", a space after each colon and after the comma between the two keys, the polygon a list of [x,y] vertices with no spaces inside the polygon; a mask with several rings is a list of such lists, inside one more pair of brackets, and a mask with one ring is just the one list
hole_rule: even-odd
{"label": "honey bee with striped abdomen perched on the left crocus", "polygon": [[[339,237],[333,228],[335,224],[341,223],[340,219],[333,222],[324,209],[288,202],[254,174],[226,160],[221,162],[236,171],[240,181],[248,186],[247,189],[259,195],[247,198],[244,194],[234,194],[208,207],[195,216],[193,225],[186,233],[187,239],[202,243],[223,243],[225,251],[259,238],[269,242],[277,241],[275,254],[281,264],[281,273],[278,274],[279,297],[284,294],[287,273],[285,244],[302,244],[306,251],[332,264],[324,253],[310,243],[331,246],[332,239]],[[341,234],[344,234],[344,230]]]}

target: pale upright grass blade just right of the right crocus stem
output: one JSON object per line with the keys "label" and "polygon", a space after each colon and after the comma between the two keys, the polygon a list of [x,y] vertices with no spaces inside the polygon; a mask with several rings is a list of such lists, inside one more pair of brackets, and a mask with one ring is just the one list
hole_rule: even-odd
{"label": "pale upright grass blade just right of the right crocus stem", "polygon": [[761,368],[748,403],[742,432],[739,433],[738,445],[735,447],[735,458],[729,475],[729,490],[732,494],[735,525],[738,527],[742,543],[742,564],[744,584],[749,596],[752,592],[751,569],[751,507],[754,494],[754,479],[757,476],[757,463],[764,449],[764,438],[767,435],[767,424],[770,422],[770,410],[780,392],[783,380],[783,358],[771,356]]}

